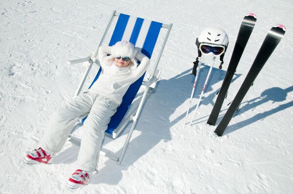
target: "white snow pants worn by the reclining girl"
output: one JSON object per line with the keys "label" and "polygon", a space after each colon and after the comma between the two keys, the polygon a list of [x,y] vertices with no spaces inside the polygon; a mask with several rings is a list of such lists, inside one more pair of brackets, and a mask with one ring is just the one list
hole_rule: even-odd
{"label": "white snow pants worn by the reclining girl", "polygon": [[78,118],[88,114],[78,155],[78,169],[93,172],[99,161],[104,132],[119,102],[101,94],[86,91],[56,111],[45,130],[42,149],[50,153],[61,151]]}

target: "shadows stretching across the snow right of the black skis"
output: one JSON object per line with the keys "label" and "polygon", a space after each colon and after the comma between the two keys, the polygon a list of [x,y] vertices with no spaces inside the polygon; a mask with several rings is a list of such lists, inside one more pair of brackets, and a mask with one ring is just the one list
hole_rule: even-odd
{"label": "shadows stretching across the snow right of the black skis", "polygon": [[[241,103],[241,104],[245,104],[245,105],[243,107],[240,107],[238,109],[238,111],[236,111],[234,117],[238,116],[238,115],[240,115],[240,114],[242,114],[252,108],[255,108],[263,103],[267,103],[269,101],[272,101],[272,103],[283,102],[286,100],[288,93],[291,91],[293,91],[293,86],[290,86],[286,89],[282,89],[280,87],[272,87],[272,88],[266,89],[265,91],[263,91],[261,93],[260,97]],[[286,103],[286,104],[279,105],[278,107],[273,108],[272,110],[258,113],[249,119],[246,119],[246,120],[241,121],[239,123],[235,123],[233,125],[230,125],[227,128],[227,130],[225,131],[225,133],[227,134],[227,133],[231,133],[237,129],[241,129],[241,128],[248,126],[256,121],[262,120],[262,119],[264,119],[264,118],[266,118],[276,112],[282,111],[282,110],[284,110],[286,108],[290,108],[292,106],[293,106],[293,101]]]}

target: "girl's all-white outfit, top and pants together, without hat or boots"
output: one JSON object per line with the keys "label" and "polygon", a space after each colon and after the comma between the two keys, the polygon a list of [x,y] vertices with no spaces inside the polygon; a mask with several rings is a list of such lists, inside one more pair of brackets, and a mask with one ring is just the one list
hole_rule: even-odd
{"label": "girl's all-white outfit, top and pants together, without hat or boots", "polygon": [[42,139],[42,149],[50,153],[61,151],[68,135],[79,117],[88,114],[81,127],[83,136],[78,155],[77,168],[93,172],[99,160],[104,132],[110,118],[122,102],[128,87],[140,78],[149,65],[149,59],[138,52],[135,56],[141,62],[131,68],[118,67],[114,60],[105,60],[111,54],[110,46],[101,46],[99,59],[103,69],[99,79],[83,94],[63,105],[52,115]]}

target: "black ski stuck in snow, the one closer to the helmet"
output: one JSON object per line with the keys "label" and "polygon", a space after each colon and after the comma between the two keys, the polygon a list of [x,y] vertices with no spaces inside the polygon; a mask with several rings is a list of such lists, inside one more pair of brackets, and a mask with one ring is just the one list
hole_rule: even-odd
{"label": "black ski stuck in snow, the one closer to the helmet", "polygon": [[225,75],[225,78],[223,80],[223,84],[221,86],[221,89],[218,93],[217,100],[212,108],[212,111],[209,115],[208,124],[215,126],[217,118],[219,116],[220,110],[222,108],[224,99],[226,98],[228,88],[230,86],[230,83],[232,81],[233,75],[236,71],[236,67],[240,61],[240,58],[242,56],[242,53],[244,51],[244,48],[251,36],[251,32],[253,30],[253,27],[256,22],[256,15],[255,14],[247,14],[240,26],[238,36],[236,39],[236,43],[234,46],[234,50],[231,56],[231,60]]}

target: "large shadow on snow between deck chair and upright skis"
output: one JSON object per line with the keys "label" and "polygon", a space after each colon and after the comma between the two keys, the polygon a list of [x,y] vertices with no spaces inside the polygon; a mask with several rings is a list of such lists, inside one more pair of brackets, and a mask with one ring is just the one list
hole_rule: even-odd
{"label": "large shadow on snow between deck chair and upright skis", "polygon": [[[194,98],[197,98],[201,93],[209,72],[209,67],[209,65],[202,64]],[[191,75],[191,70],[188,69],[173,78],[158,81],[157,89],[146,101],[136,126],[136,130],[140,131],[141,134],[130,140],[121,165],[115,164],[113,160],[106,160],[104,167],[99,169],[99,173],[93,174],[91,184],[106,183],[109,185],[117,185],[122,179],[123,171],[126,171],[162,140],[168,142],[172,139],[170,133],[171,127],[183,119],[186,113],[182,113],[175,119],[170,119],[170,116],[190,98],[194,83],[194,76]],[[213,68],[209,84],[206,87],[206,93],[212,91],[210,86],[222,81],[224,76],[225,73],[223,73],[223,70]],[[239,76],[238,74],[236,77]],[[215,93],[209,93],[205,97],[205,100],[202,100],[202,104],[213,104]],[[192,107],[190,111],[194,108]],[[120,151],[117,151],[117,153],[120,153]]]}

